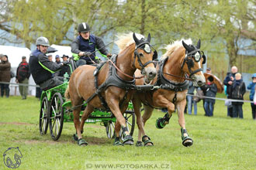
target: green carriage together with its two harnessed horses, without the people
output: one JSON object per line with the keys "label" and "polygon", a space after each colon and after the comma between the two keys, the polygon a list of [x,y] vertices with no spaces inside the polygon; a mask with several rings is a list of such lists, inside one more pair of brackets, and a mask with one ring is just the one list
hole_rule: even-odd
{"label": "green carriage together with its two harnessed horses, without the people", "polygon": [[[147,39],[137,39],[133,33],[133,39],[128,40],[130,42],[125,37],[117,43],[121,49],[118,56],[112,56],[96,67],[79,66],[69,82],[42,93],[41,134],[46,134],[49,123],[51,137],[54,140],[60,138],[64,114],[72,111],[76,129],[74,139],[78,145],[88,144],[81,138],[84,124],[98,121],[106,127],[108,138],[115,136],[114,145],[132,145],[135,114],[139,128],[137,145],[141,146],[141,141],[144,145],[153,145],[144,132],[147,119],[154,108],[167,108],[168,114],[156,122],[157,128],[164,128],[176,107],[182,145],[192,145],[192,138],[185,129],[184,108],[188,80],[198,86],[205,83],[201,67],[206,62],[206,56],[199,49],[200,41],[197,46],[183,41],[183,46],[170,46],[164,59],[155,67],[152,60],[157,58],[157,53],[151,50],[150,35]],[[136,70],[140,70],[140,75],[136,74]],[[140,93],[142,89],[146,92]],[[141,104],[145,108],[143,117],[140,115]],[[85,107],[83,112],[82,107]]]}

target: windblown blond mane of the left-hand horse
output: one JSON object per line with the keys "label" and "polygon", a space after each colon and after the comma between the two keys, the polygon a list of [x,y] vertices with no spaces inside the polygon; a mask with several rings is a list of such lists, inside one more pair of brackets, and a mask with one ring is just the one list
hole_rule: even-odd
{"label": "windblown blond mane of the left-hand horse", "polygon": [[[137,39],[144,38],[144,36],[140,34],[136,34]],[[134,42],[133,40],[133,32],[125,33],[122,35],[117,36],[116,45],[119,47],[119,53],[123,51],[123,49],[126,49],[127,46],[132,45]]]}

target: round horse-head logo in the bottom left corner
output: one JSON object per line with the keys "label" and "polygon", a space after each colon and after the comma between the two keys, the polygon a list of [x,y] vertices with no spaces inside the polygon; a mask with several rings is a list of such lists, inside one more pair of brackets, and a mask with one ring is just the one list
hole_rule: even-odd
{"label": "round horse-head logo in the bottom left corner", "polygon": [[5,166],[8,168],[19,168],[19,165],[21,165],[21,159],[22,153],[19,151],[19,147],[17,148],[8,148],[4,156],[4,163]]}

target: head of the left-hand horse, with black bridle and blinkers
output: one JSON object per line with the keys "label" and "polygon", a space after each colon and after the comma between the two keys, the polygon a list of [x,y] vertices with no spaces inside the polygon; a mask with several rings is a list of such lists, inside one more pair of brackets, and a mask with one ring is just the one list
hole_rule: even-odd
{"label": "head of the left-hand horse, with black bridle and blinkers", "polygon": [[141,73],[145,76],[146,82],[154,79],[154,76],[157,74],[157,70],[154,67],[153,59],[157,58],[156,50],[150,45],[150,33],[147,36],[147,39],[144,39],[143,36],[140,38],[133,32],[133,40],[136,44],[136,49],[134,51],[134,62],[133,65],[141,70]]}

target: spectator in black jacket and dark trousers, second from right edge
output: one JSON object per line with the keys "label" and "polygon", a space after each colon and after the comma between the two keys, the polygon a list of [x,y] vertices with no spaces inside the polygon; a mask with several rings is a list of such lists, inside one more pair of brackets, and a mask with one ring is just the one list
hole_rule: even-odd
{"label": "spectator in black jacket and dark trousers, second from right edge", "polygon": [[[241,74],[236,73],[236,80],[232,83],[232,88],[230,89],[231,99],[244,100],[245,84],[242,80]],[[243,104],[244,102],[232,101],[233,107],[233,117],[243,118]]]}

